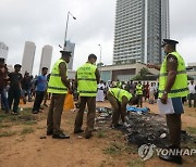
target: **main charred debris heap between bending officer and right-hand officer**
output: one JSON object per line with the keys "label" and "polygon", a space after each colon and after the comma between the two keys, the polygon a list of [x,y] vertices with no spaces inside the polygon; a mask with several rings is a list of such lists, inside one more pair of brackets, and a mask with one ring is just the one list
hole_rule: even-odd
{"label": "main charred debris heap between bending officer and right-hand officer", "polygon": [[168,143],[168,128],[163,117],[151,113],[130,113],[128,118],[130,127],[126,129],[128,142],[137,145],[152,143],[157,146]]}

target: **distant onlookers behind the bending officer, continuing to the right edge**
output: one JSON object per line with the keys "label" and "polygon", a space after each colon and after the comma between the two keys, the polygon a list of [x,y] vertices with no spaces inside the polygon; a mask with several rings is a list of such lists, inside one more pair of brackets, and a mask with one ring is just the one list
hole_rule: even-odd
{"label": "distant onlookers behind the bending officer, continuing to the right edge", "polygon": [[[142,86],[142,88],[139,88]],[[189,80],[188,84],[188,95],[183,97],[182,101],[188,102],[188,106],[196,107],[196,85],[194,84],[194,79]],[[139,101],[137,104],[137,107],[143,106],[143,102],[147,102],[149,104],[156,104],[158,94],[159,94],[159,82],[157,81],[100,81],[98,84],[98,91],[96,95],[97,102],[103,102],[107,100],[107,91],[110,88],[118,87],[121,89],[124,89],[133,94],[133,97],[136,97]],[[140,92],[138,92],[138,89],[140,89]]]}

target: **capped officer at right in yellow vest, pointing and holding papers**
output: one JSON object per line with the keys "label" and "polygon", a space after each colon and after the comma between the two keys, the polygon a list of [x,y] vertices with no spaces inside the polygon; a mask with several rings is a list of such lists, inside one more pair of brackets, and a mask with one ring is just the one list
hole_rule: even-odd
{"label": "capped officer at right in yellow vest, pointing and holding papers", "polygon": [[[167,53],[161,66],[148,64],[160,70],[159,77],[159,98],[163,104],[167,104],[168,99],[172,101],[174,114],[167,114],[167,125],[170,133],[171,145],[169,149],[179,150],[181,147],[181,114],[184,113],[182,97],[186,97],[187,75],[183,57],[176,52],[175,46],[179,43],[175,40],[163,39],[163,49]],[[182,164],[180,155],[160,155],[163,160]]]}

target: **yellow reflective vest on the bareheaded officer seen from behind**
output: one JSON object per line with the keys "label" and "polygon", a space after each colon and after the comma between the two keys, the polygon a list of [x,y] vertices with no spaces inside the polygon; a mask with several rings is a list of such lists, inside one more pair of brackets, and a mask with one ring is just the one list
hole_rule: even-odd
{"label": "yellow reflective vest on the bareheaded officer seen from behind", "polygon": [[79,97],[96,97],[97,94],[97,79],[96,79],[97,66],[85,63],[77,69],[77,90]]}

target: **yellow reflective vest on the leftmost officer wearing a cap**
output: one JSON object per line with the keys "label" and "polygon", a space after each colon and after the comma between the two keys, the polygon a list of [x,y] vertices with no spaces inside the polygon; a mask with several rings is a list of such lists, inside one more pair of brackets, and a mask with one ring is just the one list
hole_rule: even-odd
{"label": "yellow reflective vest on the leftmost officer wearing a cap", "polygon": [[[68,93],[68,88],[62,82],[60,72],[59,72],[59,64],[62,62],[65,63],[61,59],[58,60],[52,67],[52,72],[50,74],[50,80],[48,82],[48,90],[47,90],[50,93],[60,93],[60,94]],[[68,73],[68,70],[66,70],[66,73]]]}

